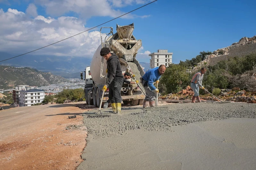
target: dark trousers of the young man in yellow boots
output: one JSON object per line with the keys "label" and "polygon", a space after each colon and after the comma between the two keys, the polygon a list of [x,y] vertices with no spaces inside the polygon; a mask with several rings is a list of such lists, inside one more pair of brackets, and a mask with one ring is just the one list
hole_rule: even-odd
{"label": "dark trousers of the young man in yellow boots", "polygon": [[109,85],[109,100],[111,103],[121,103],[121,88],[123,85],[124,79],[114,79]]}

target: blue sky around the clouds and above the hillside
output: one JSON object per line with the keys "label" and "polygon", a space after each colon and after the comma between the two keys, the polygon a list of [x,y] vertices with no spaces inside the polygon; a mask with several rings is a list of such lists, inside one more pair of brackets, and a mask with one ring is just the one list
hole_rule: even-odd
{"label": "blue sky around the clouds and above the hillside", "polygon": [[[75,0],[70,0],[70,2],[71,1]],[[98,2],[103,1],[104,0],[100,0]],[[91,1],[88,1],[88,3],[89,2]],[[115,3],[115,1],[112,2]],[[129,12],[148,3],[149,1],[145,1],[143,4],[136,4],[136,2],[139,2],[139,0],[134,0],[133,2],[134,3],[131,5],[123,5],[122,7],[117,7],[118,5],[112,5],[111,3],[110,5],[112,5],[112,10]],[[4,12],[7,12],[7,10],[11,8],[16,9],[19,12],[26,13],[28,5],[31,3],[35,4],[37,8],[37,15],[44,16],[45,18],[51,17],[54,19],[58,19],[58,17],[61,16],[74,16],[77,17],[78,20],[84,24],[86,28],[95,27],[103,22],[113,19],[113,16],[111,16],[111,11],[107,14],[107,16],[102,16],[104,14],[104,10],[101,10],[100,14],[95,12],[92,17],[88,16],[87,13],[83,13],[83,9],[80,9],[79,11],[76,10],[76,8],[73,8],[73,10],[69,10],[68,8],[66,10],[62,10],[62,8],[60,9],[55,7],[57,12],[51,12],[49,8],[47,11],[47,3],[50,3],[49,0],[46,0],[45,2],[43,2],[43,0],[2,0],[0,1],[0,9],[3,9]],[[97,5],[94,7],[97,9]],[[92,10],[94,7],[92,7]],[[107,6],[105,7],[107,8]],[[158,49],[168,49],[169,52],[173,52],[173,63],[179,63],[180,60],[184,61],[186,59],[195,57],[199,54],[200,51],[214,51],[219,48],[227,47],[232,43],[238,42],[240,38],[244,36],[252,37],[256,35],[256,19],[255,16],[253,16],[255,7],[256,1],[249,0],[158,0],[150,5],[145,6],[144,8],[132,12],[132,14],[136,14],[137,16],[145,15],[147,17],[135,17],[133,19],[119,18],[104,24],[102,27],[111,26],[114,28],[114,32],[116,32],[116,23],[119,25],[128,25],[134,23],[134,36],[136,39],[142,40],[143,46],[143,49],[140,51],[141,56],[138,55],[139,61],[149,62],[148,55],[142,54],[145,51],[150,51],[153,53]],[[62,12],[58,13],[58,11],[61,10]],[[30,16],[30,19],[33,18],[34,17]],[[100,27],[95,30],[99,29]],[[80,30],[81,29],[78,28],[77,33],[80,32]],[[76,31],[72,33],[75,34]],[[30,35],[30,37],[31,36],[33,36],[33,34]],[[66,37],[59,38],[64,39]],[[54,42],[54,40],[52,41]],[[66,41],[66,43],[70,43],[69,40]],[[35,44],[35,40],[33,44]],[[26,48],[26,45],[21,45],[22,50],[17,50],[17,54],[19,54],[19,52],[27,52],[28,50],[33,50],[33,48],[40,48],[40,45],[44,45],[44,43],[38,43],[38,46],[32,47],[30,45],[28,48]],[[65,48],[65,43],[62,43],[62,45],[62,48]],[[95,43],[95,48],[98,45]],[[46,48],[44,50],[42,49],[41,52],[47,52]],[[74,50],[75,47],[72,48]],[[51,47],[50,49],[53,50],[54,48]],[[62,51],[62,49],[58,50]],[[10,48],[3,48],[0,49],[0,51],[9,53],[13,52],[13,50]],[[60,51],[58,52],[55,49],[54,52],[60,53]],[[79,49],[75,49],[75,51],[79,53]],[[39,53],[40,52],[35,52],[35,55]]]}

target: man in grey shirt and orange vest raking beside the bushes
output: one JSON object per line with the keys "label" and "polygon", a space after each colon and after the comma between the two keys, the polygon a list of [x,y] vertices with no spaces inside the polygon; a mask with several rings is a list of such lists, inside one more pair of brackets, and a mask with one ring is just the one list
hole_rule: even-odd
{"label": "man in grey shirt and orange vest raking beside the bushes", "polygon": [[192,97],[192,103],[195,103],[195,99],[197,99],[197,102],[201,102],[201,99],[199,97],[199,87],[204,89],[202,86],[202,81],[203,81],[203,74],[206,72],[206,68],[203,67],[201,68],[200,72],[197,72],[194,74],[192,77],[190,87],[194,91],[194,96]]}

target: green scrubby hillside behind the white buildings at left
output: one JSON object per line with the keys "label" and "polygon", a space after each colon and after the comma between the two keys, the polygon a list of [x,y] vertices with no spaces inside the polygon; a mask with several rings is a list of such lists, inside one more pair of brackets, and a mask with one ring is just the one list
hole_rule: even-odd
{"label": "green scrubby hillside behind the white buildings at left", "polygon": [[17,85],[40,87],[61,82],[69,82],[69,80],[52,73],[44,73],[29,67],[17,68],[0,66],[1,89],[9,89]]}

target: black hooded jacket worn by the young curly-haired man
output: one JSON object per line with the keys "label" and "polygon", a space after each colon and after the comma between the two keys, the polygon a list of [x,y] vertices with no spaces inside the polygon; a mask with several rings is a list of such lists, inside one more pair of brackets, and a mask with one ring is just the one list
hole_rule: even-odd
{"label": "black hooded jacket worn by the young curly-haired man", "polygon": [[121,70],[119,58],[115,53],[113,53],[110,56],[110,58],[107,60],[107,68],[108,68],[108,81],[106,83],[107,86],[109,86],[113,80],[124,78]]}

